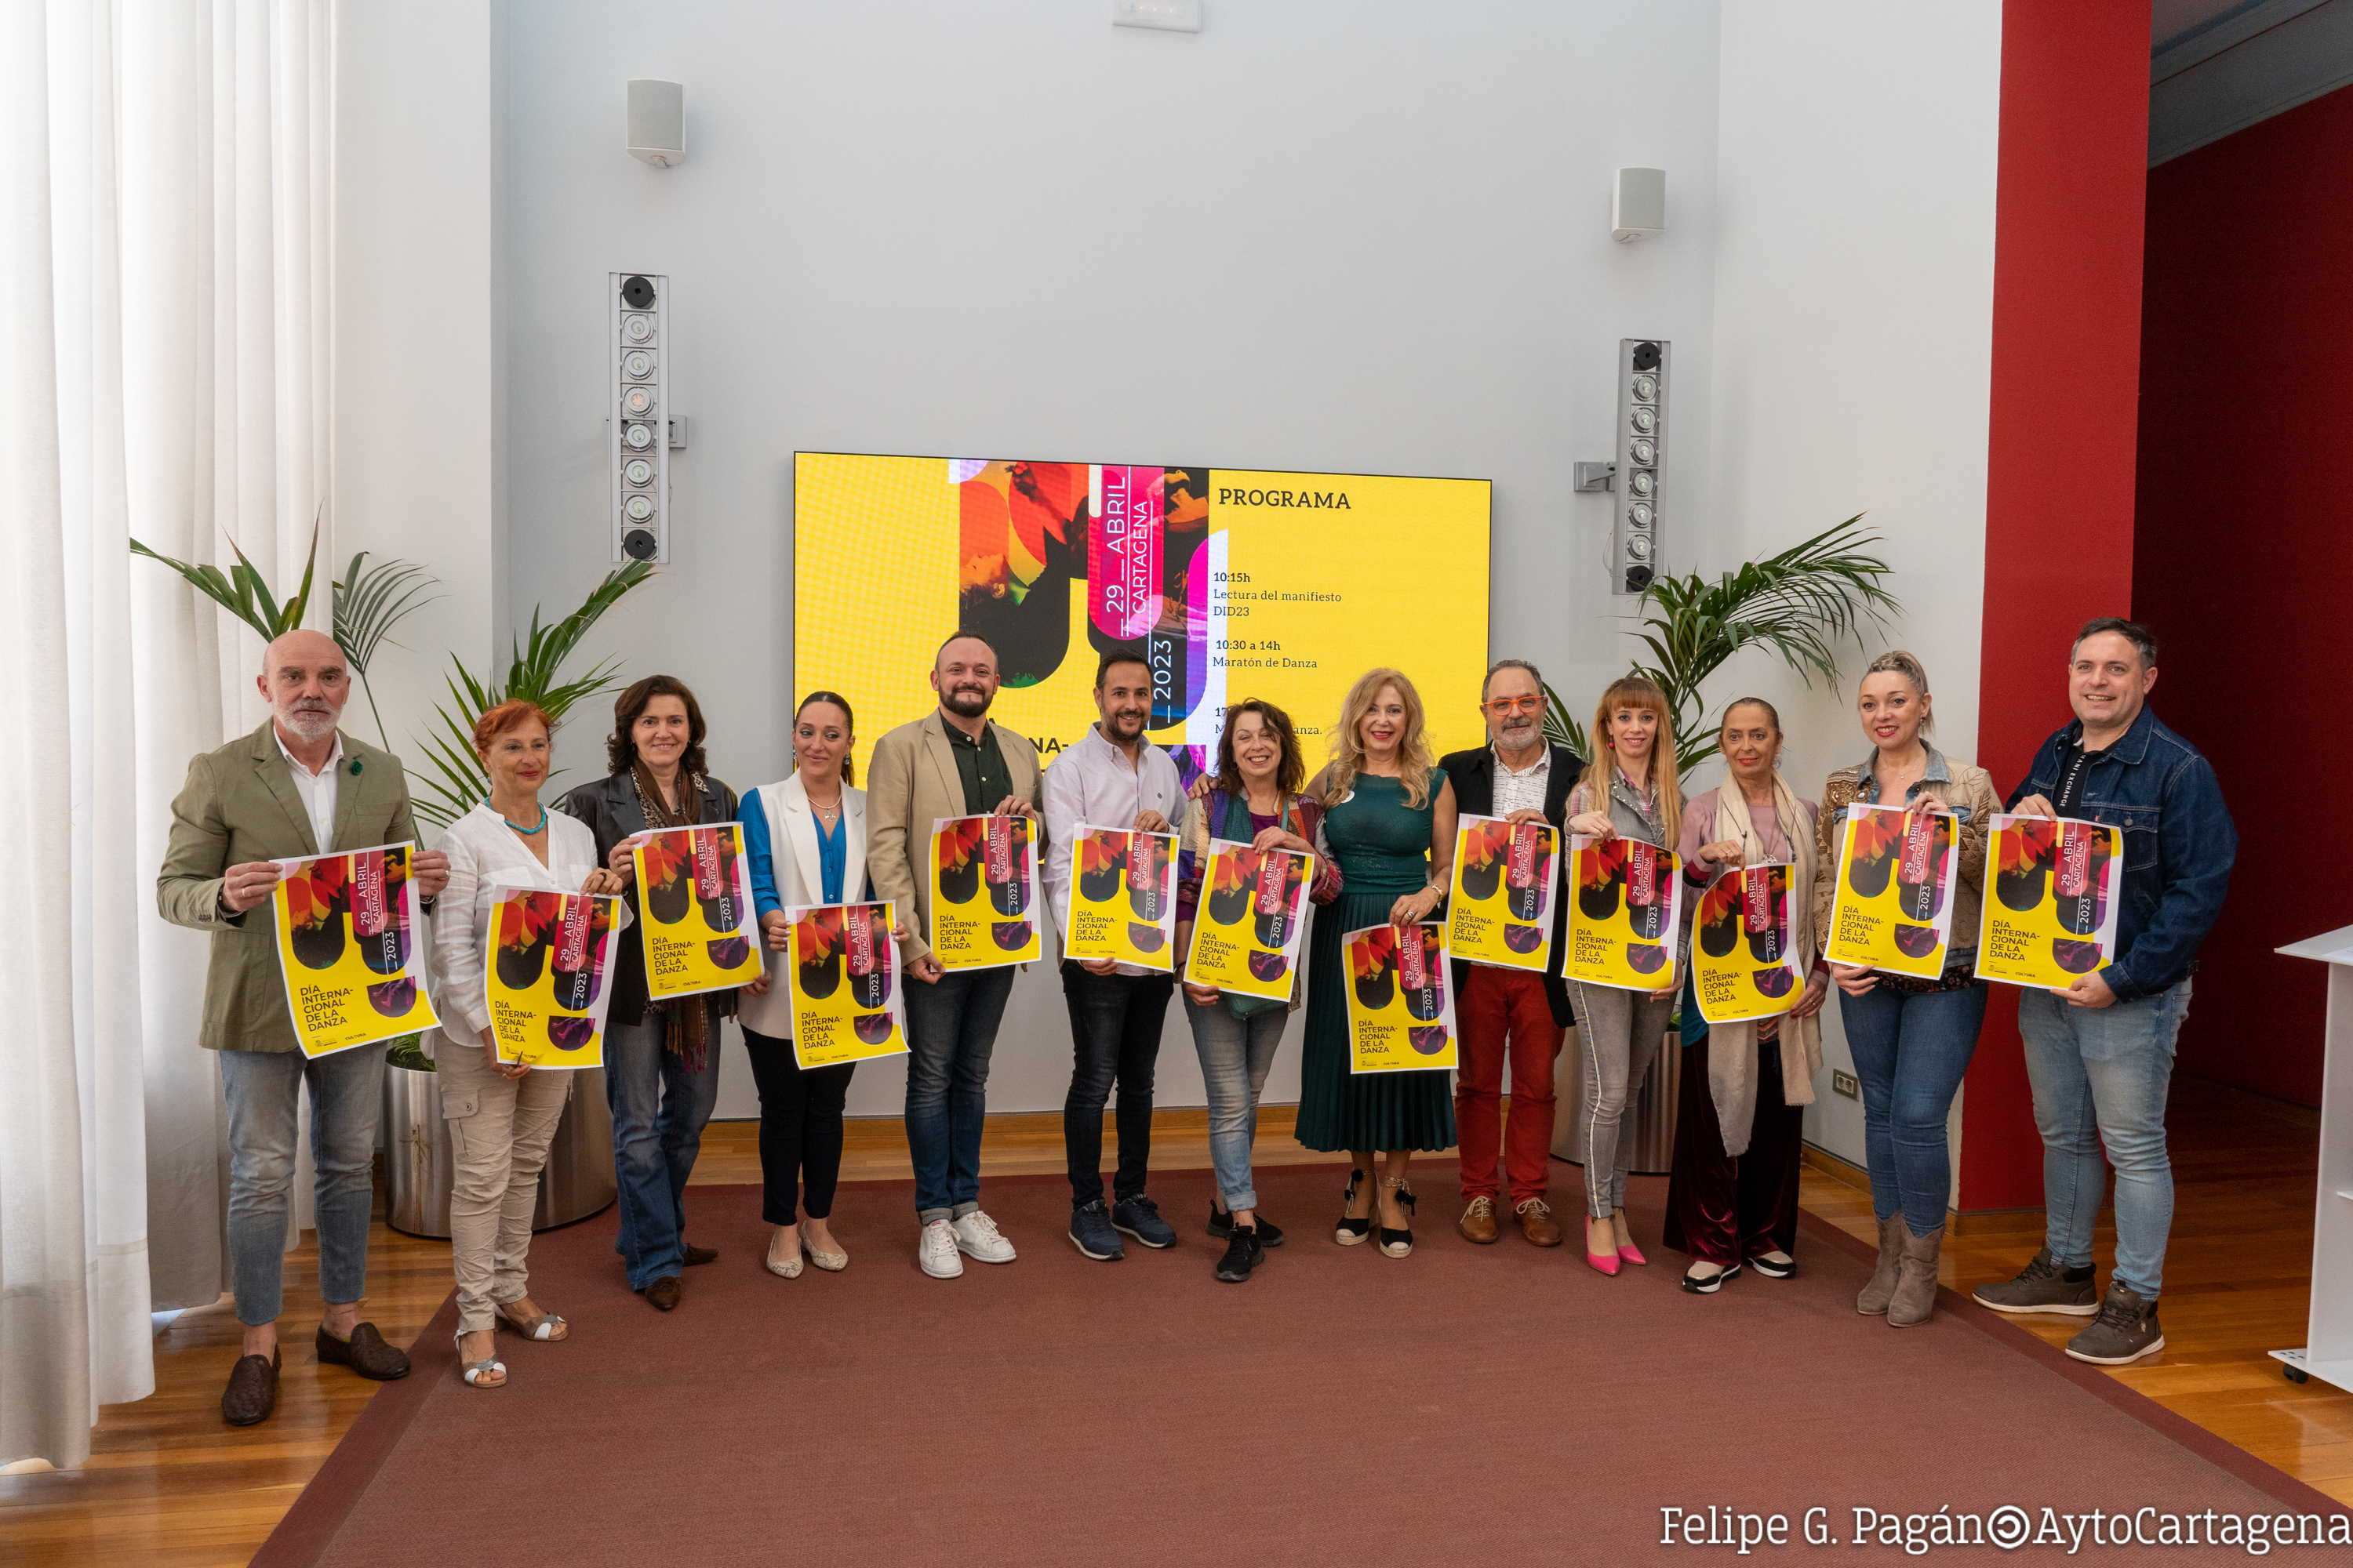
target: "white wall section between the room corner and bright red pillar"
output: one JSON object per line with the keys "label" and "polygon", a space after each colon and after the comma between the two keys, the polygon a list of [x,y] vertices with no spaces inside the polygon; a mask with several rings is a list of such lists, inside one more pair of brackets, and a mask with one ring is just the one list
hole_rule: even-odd
{"label": "white wall section between the room corner and bright red pillar", "polygon": [[[1993,343],[2000,0],[1732,0],[1722,16],[1715,541],[1769,552],[1864,512],[1904,618],[1873,654],[1927,665],[1937,731],[1974,752]],[[1861,658],[1854,661],[1861,668]],[[1718,679],[1781,708],[1786,776],[1866,755],[1840,691],[1760,656]],[[1718,769],[1697,783],[1713,783]],[[1824,1058],[1849,1067],[1835,1001]],[[1805,1135],[1864,1161],[1864,1112],[1819,1084]],[[1960,1103],[1953,1103],[1960,1168]]]}

